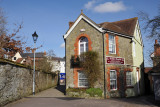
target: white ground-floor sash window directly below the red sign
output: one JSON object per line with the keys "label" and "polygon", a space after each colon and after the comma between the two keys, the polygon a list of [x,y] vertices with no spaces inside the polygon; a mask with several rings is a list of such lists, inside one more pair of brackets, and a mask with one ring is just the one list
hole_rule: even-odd
{"label": "white ground-floor sash window directly below the red sign", "polygon": [[110,89],[117,89],[117,72],[115,70],[110,71]]}

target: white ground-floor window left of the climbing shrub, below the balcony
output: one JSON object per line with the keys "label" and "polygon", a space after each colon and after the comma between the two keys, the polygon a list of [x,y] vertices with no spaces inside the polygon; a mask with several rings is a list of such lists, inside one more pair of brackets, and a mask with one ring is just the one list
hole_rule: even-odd
{"label": "white ground-floor window left of the climbing shrub, below the balcony", "polygon": [[83,71],[78,72],[78,86],[79,87],[87,87],[88,86],[88,80]]}

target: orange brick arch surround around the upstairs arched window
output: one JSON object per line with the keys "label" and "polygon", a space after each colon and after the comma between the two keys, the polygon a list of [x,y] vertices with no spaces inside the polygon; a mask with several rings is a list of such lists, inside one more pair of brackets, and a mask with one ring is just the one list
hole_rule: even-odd
{"label": "orange brick arch surround around the upstairs arched window", "polygon": [[79,55],[79,39],[81,37],[86,37],[88,39],[88,50],[89,51],[92,50],[92,47],[91,47],[92,41],[91,41],[90,37],[87,34],[82,33],[76,38],[76,42],[74,43],[74,47],[75,47],[74,48],[74,53],[75,53],[74,55],[75,55],[75,57],[77,55]]}

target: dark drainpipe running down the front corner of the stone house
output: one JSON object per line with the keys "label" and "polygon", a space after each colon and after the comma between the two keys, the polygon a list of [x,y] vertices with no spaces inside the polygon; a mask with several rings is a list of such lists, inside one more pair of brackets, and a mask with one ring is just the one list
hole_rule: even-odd
{"label": "dark drainpipe running down the front corner of the stone house", "polygon": [[[106,29],[104,29],[106,30]],[[104,69],[104,99],[106,99],[106,69],[105,69],[105,52],[104,52],[104,34],[106,31],[102,33],[102,40],[103,40],[103,69]]]}

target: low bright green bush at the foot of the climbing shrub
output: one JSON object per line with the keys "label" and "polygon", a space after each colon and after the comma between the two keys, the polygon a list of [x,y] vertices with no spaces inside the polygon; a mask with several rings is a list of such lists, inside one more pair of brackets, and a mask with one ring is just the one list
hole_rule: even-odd
{"label": "low bright green bush at the foot of the climbing shrub", "polygon": [[91,97],[94,97],[95,95],[102,97],[102,92],[103,91],[100,88],[89,88],[86,90],[86,93]]}

